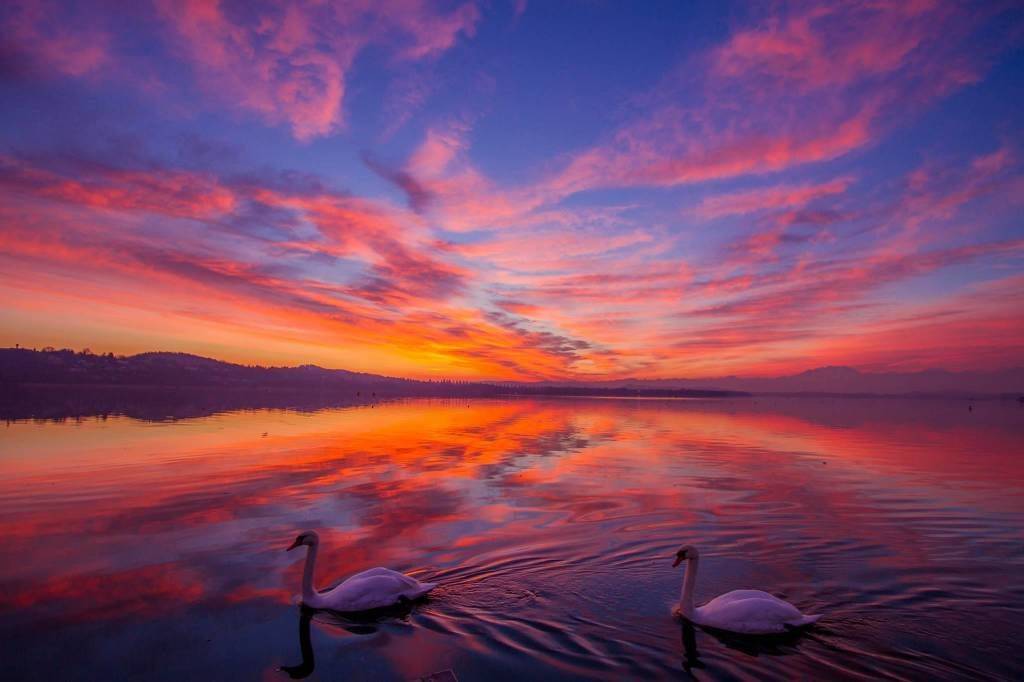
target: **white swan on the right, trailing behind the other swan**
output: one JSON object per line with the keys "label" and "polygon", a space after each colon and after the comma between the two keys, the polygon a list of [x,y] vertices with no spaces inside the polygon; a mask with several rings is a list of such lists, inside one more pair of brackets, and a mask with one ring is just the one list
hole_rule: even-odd
{"label": "white swan on the right, trailing behind the other swan", "polygon": [[676,552],[673,567],[686,561],[686,577],[679,597],[679,610],[690,623],[744,635],[771,635],[815,623],[820,615],[805,615],[787,601],[761,590],[733,590],[693,607],[693,584],[697,580],[700,553],[691,545]]}

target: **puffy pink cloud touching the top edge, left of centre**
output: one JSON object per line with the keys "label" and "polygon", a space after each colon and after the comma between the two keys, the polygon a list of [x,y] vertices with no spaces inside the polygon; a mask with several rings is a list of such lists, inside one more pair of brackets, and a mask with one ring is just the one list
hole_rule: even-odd
{"label": "puffy pink cloud touching the top edge, left of centre", "polygon": [[252,7],[248,16],[218,2],[157,0],[162,17],[204,86],[224,102],[286,123],[300,140],[343,123],[346,78],[371,43],[400,44],[400,59],[424,59],[472,36],[472,4],[451,13],[416,0],[318,2]]}

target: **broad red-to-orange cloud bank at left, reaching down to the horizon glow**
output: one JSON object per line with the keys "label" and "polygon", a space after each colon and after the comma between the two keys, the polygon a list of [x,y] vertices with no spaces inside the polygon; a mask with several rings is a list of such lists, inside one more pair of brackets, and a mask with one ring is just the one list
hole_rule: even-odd
{"label": "broad red-to-orange cloud bank at left, reaching down to the horizon glow", "polygon": [[[318,239],[266,244],[231,231],[232,221],[221,219],[217,232],[202,222],[176,222],[177,241],[158,246],[145,239],[151,212],[160,210],[158,216],[172,221],[211,217],[203,208],[211,205],[210,191],[195,193],[202,201],[151,204],[148,193],[164,186],[160,179],[181,173],[109,172],[90,177],[91,190],[83,191],[39,167],[8,164],[7,170],[6,190],[20,201],[0,214],[6,288],[49,291],[47,304],[78,310],[63,319],[67,328],[101,324],[106,314],[157,315],[177,319],[175,329],[193,343],[208,339],[245,348],[245,339],[256,335],[263,352],[292,348],[290,353],[319,356],[328,365],[402,375],[429,368],[444,376],[555,376],[578,355],[573,343],[554,332],[495,321],[461,301],[470,273],[446,262],[415,216],[398,210],[341,194],[238,186],[233,203],[213,205],[241,210],[258,202],[286,209],[295,212],[290,225],[298,217],[315,227]],[[119,219],[112,221],[111,212]],[[224,229],[233,237],[230,256],[216,242]],[[249,262],[243,252],[261,257]],[[345,282],[330,282],[292,270],[280,258],[263,261],[281,252],[344,258],[354,270]],[[78,287],[54,282],[72,270],[79,273]],[[96,300],[106,302],[104,311],[80,305]],[[355,360],[352,348],[362,349]]]}

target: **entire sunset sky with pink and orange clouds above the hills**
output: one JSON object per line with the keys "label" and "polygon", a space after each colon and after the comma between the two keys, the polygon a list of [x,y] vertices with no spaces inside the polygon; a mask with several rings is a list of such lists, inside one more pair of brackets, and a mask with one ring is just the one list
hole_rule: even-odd
{"label": "entire sunset sky with pink and orange clouds above the hills", "polygon": [[1024,7],[5,2],[0,345],[1024,365]]}

